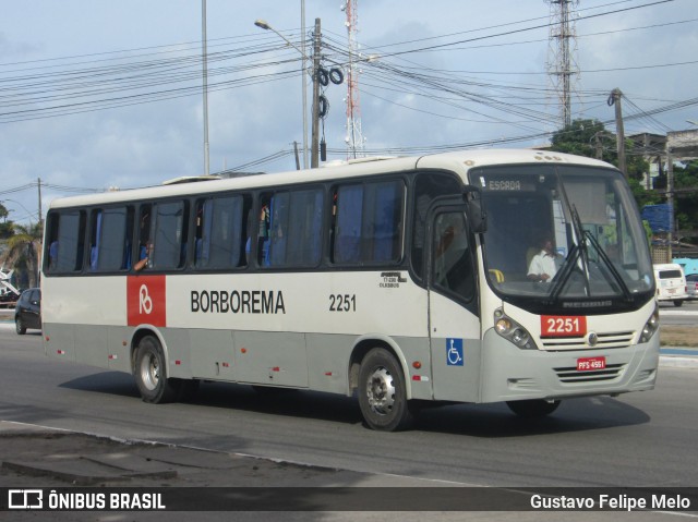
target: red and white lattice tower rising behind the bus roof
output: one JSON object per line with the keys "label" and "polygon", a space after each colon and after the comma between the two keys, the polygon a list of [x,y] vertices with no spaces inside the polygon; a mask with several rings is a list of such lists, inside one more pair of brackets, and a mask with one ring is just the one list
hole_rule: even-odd
{"label": "red and white lattice tower rising behind the bus roof", "polygon": [[362,158],[363,134],[361,133],[361,110],[359,108],[359,48],[357,44],[357,0],[346,0],[341,7],[347,14],[349,38],[349,66],[347,68],[347,159]]}

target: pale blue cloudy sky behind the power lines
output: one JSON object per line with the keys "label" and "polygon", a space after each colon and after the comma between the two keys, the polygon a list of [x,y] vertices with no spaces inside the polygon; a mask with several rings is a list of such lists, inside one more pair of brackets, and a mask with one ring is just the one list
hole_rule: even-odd
{"label": "pale blue cloudy sky behind the power lines", "polygon": [[[301,7],[306,56],[320,19],[322,63],[346,80],[342,2],[206,0],[212,173],[296,169],[303,82],[309,131],[312,95]],[[619,88],[626,134],[698,128],[697,8],[573,1],[571,118],[615,132],[607,100]],[[562,128],[549,1],[357,0],[356,14],[359,155],[540,146]],[[39,185],[45,215],[57,197],[204,173],[202,34],[202,0],[2,2],[0,202],[10,219],[37,221]],[[323,95],[328,159],[347,159],[347,82]]]}

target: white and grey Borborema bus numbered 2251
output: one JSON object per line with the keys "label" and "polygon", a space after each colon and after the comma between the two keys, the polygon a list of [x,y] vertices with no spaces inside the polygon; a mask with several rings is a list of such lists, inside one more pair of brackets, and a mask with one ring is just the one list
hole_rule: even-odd
{"label": "white and grey Borborema bus numbered 2251", "polygon": [[310,389],[393,430],[426,401],[534,416],[657,377],[645,230],[623,174],[588,158],[468,150],[63,198],[44,259],[46,353],[129,372],[146,402],[202,380]]}

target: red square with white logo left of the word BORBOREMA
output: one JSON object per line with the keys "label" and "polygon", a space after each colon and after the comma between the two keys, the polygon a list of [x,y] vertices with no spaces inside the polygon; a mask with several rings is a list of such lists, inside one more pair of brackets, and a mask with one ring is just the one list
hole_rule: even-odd
{"label": "red square with white logo left of the word BORBOREMA", "polygon": [[147,323],[167,326],[165,276],[129,276],[127,312],[129,326]]}

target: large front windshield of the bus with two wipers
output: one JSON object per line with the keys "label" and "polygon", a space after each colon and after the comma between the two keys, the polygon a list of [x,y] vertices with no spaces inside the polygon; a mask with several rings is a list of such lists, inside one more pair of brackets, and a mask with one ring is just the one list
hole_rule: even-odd
{"label": "large front windshield of the bus with two wipers", "polygon": [[621,172],[497,166],[471,171],[470,182],[482,189],[486,276],[503,300],[593,314],[635,309],[653,295],[647,236]]}

